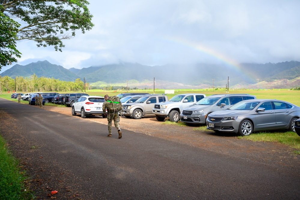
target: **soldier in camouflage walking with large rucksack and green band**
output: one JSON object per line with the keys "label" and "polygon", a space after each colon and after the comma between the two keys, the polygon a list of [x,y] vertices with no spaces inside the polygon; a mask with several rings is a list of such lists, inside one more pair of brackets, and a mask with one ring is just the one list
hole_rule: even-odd
{"label": "soldier in camouflage walking with large rucksack and green band", "polygon": [[[108,121],[108,137],[111,137],[111,124],[114,120],[114,125],[118,130],[119,133],[119,139],[122,137],[122,132],[120,128],[120,116],[119,111],[122,107],[122,103],[120,102],[120,98],[117,96],[109,97],[107,94],[104,96],[104,103],[102,106],[102,111],[105,113],[105,116],[107,115],[107,121]],[[106,113],[107,110],[107,113]]]}

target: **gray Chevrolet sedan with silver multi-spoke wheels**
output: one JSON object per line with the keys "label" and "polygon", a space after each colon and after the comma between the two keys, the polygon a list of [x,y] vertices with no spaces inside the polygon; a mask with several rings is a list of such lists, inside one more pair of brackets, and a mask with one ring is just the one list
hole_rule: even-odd
{"label": "gray Chevrolet sedan with silver multi-spoke wheels", "polygon": [[250,135],[253,131],[288,129],[295,132],[300,107],[272,99],[244,100],[208,115],[207,129]]}

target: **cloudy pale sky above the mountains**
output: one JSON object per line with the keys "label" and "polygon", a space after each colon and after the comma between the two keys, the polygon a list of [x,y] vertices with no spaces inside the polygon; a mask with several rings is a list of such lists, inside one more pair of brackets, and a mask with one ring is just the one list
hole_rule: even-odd
{"label": "cloudy pale sky above the mountains", "polygon": [[18,64],[48,60],[81,69],[119,62],[154,66],[300,61],[299,0],[89,2],[95,24],[91,31],[65,40],[63,52],[18,42]]}

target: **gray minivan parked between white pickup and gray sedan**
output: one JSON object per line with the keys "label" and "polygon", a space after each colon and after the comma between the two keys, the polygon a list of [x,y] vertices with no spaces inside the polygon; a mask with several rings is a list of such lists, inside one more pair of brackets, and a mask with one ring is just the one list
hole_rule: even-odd
{"label": "gray minivan parked between white pickup and gray sedan", "polygon": [[213,94],[183,109],[180,121],[190,124],[205,124],[208,114],[229,108],[242,100],[256,99],[249,94]]}

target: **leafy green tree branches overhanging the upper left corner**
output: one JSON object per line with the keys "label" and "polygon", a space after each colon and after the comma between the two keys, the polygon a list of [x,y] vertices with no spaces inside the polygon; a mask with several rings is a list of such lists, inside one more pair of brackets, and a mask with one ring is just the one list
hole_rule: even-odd
{"label": "leafy green tree branches overhanging the upper left corner", "polygon": [[87,5],[86,0],[0,0],[0,70],[21,57],[17,40],[33,40],[38,47],[48,45],[62,51],[63,39],[73,38],[76,30],[92,29],[93,16]]}

